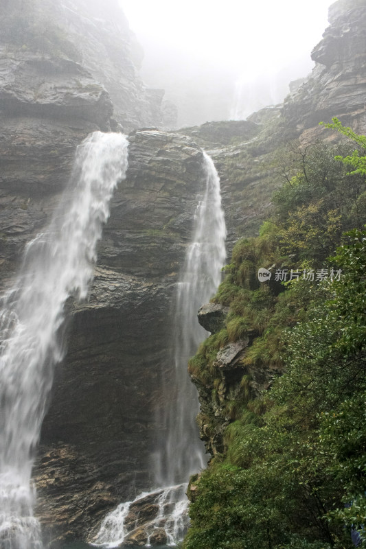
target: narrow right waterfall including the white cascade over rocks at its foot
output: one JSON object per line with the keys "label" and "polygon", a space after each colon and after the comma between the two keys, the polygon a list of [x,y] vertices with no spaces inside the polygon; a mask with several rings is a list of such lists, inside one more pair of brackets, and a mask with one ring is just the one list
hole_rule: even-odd
{"label": "narrow right waterfall including the white cascade over rocks at its foot", "polygon": [[109,513],[93,539],[93,544],[97,546],[121,546],[135,527],[135,524],[126,526],[128,513],[135,504],[139,505],[144,500],[153,501],[159,507],[159,513],[146,528],[148,541],[159,528],[165,529],[169,546],[181,541],[187,529],[187,480],[205,467],[205,450],[196,425],[199,409],[197,391],[187,373],[187,362],[207,337],[207,331],[198,325],[197,311],[209,301],[221,281],[221,269],[226,257],[226,226],[221,207],[220,178],[213,161],[205,152],[203,159],[205,194],[198,200],[192,242],[187,247],[176,285],[174,369],[172,377],[165,379],[165,387],[162,388],[167,399],[170,395],[170,406],[163,410],[163,423],[168,435],[155,454],[156,483],[161,488],[141,493],[133,502],[120,504]]}

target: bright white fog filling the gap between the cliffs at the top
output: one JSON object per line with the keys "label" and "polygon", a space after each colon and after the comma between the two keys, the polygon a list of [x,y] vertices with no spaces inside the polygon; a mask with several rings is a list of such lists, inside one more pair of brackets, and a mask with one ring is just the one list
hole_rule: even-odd
{"label": "bright white fog filling the gap between the cliffs at the top", "polygon": [[177,126],[244,119],[314,66],[330,0],[119,0],[144,48],[141,76],[179,108]]}

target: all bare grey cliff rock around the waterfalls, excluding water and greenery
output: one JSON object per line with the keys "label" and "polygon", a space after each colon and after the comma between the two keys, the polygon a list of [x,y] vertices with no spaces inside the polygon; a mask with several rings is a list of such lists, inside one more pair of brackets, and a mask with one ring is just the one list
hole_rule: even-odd
{"label": "all bare grey cliff rock around the waterfalls, excluding water and greenery", "polygon": [[[47,224],[76,145],[93,130],[162,120],[162,94],[139,80],[141,53],[115,1],[102,13],[86,0],[30,5],[27,21],[19,19],[20,0],[5,2],[2,15],[3,25],[21,29],[13,35],[18,41],[3,32],[0,44],[3,286],[25,243]],[[184,130],[189,137],[131,133],[128,174],[113,198],[89,303],[69,305],[69,351],[56,371],[34,472],[37,514],[54,546],[57,539],[85,539],[106,511],[152,480],[154,410],[163,405],[160,379],[170,370],[170,303],[203,185],[198,145],[220,173],[230,248],[260,224],[281,181],[278,158],[289,137],[306,143],[321,135],[321,119],[335,115],[365,131],[365,14],[361,2],[332,6],[331,25],[313,52],[317,67],[283,108]],[[39,18],[57,21],[43,25],[41,43]],[[198,386],[201,434],[213,454],[222,452],[230,421],[222,410],[235,399],[248,344],[218,356],[216,401],[210,387]],[[266,388],[274,374],[249,372],[251,390]],[[214,432],[205,415],[214,418]]]}

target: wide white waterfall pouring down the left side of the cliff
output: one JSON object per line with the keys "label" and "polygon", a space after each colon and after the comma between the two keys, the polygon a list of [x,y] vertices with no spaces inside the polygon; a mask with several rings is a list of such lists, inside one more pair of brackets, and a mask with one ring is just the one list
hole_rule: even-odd
{"label": "wide white waterfall pouring down the left side of the cliff", "polygon": [[33,516],[34,448],[65,345],[69,296],[87,298],[109,201],[127,169],[127,139],[93,132],[78,147],[69,185],[48,229],[25,249],[0,303],[0,548],[40,549]]}

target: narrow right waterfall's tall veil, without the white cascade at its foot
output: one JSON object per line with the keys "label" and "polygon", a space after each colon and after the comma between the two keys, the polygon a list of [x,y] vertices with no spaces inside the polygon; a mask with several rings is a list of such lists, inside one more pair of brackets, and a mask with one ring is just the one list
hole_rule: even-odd
{"label": "narrow right waterfall's tall veil, without the white cascade at its foot", "polygon": [[168,410],[164,410],[168,436],[157,460],[160,486],[187,482],[190,475],[205,467],[204,447],[196,424],[197,390],[187,373],[187,362],[208,335],[198,324],[197,311],[214,295],[221,281],[226,227],[220,179],[211,158],[205,152],[203,156],[205,194],[198,200],[192,242],[176,285],[174,372],[166,387],[167,395],[174,389],[176,394]]}

